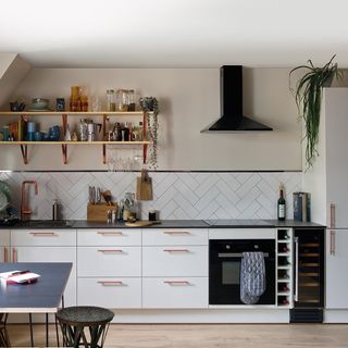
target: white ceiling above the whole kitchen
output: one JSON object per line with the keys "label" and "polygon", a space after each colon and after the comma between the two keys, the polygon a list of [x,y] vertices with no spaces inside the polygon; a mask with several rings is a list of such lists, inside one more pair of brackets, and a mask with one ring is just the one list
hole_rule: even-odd
{"label": "white ceiling above the whole kitchen", "polygon": [[33,66],[348,67],[347,1],[2,0],[0,50]]}

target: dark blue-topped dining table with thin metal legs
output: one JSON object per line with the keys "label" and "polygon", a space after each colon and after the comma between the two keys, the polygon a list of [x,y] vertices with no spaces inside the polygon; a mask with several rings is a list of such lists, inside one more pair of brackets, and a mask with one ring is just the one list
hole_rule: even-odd
{"label": "dark blue-topped dining table with thin metal legs", "polygon": [[[0,263],[0,273],[32,272],[39,275],[33,282],[14,283],[0,277],[0,346],[10,347],[7,331],[8,318],[11,313],[28,313],[30,327],[30,345],[34,347],[33,313],[46,314],[46,346],[49,346],[49,314],[55,315],[64,307],[64,289],[73,264],[71,262],[4,262]],[[55,320],[59,346],[58,323]]]}

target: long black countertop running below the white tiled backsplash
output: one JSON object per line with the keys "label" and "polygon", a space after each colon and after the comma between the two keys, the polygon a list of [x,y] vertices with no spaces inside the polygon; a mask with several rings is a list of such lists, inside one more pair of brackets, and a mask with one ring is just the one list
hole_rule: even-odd
{"label": "long black countertop running below the white tiled backsplash", "polygon": [[323,225],[312,222],[299,222],[294,220],[162,220],[160,224],[146,227],[128,227],[124,223],[117,222],[108,224],[107,222],[88,222],[86,220],[71,220],[63,222],[53,221],[30,221],[26,224],[15,224],[14,226],[0,226],[0,228],[274,228],[274,227],[297,227],[315,228]]}

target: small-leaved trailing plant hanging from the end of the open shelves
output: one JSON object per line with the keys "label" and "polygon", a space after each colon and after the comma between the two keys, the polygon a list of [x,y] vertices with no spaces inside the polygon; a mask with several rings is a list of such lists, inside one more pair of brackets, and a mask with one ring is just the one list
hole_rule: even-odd
{"label": "small-leaved trailing plant hanging from the end of the open shelves", "polygon": [[158,167],[158,129],[159,129],[159,102],[154,97],[144,97],[139,99],[141,110],[146,113],[148,134],[151,139],[149,167]]}

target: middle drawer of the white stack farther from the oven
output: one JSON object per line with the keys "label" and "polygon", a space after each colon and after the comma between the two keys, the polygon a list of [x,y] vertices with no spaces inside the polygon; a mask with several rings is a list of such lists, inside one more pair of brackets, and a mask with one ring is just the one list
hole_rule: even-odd
{"label": "middle drawer of the white stack farther from the oven", "polygon": [[140,276],[141,247],[77,247],[78,276]]}

